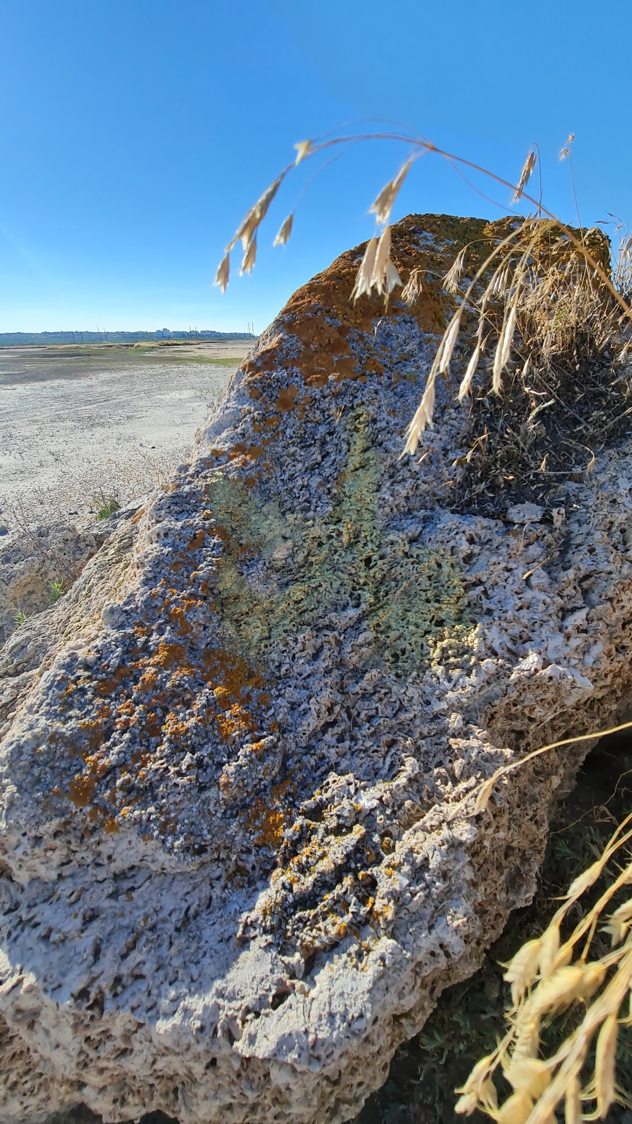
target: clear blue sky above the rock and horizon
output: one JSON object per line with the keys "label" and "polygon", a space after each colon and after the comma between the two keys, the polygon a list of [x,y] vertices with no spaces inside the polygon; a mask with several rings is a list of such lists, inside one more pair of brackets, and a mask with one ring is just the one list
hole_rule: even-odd
{"label": "clear blue sky above the rock and horizon", "polygon": [[[515,180],[542,154],[544,202],[581,221],[630,218],[624,0],[0,0],[0,330],[262,330],[290,293],[373,233],[368,207],[406,149],[354,147],[275,199],[254,273],[217,263],[296,140],[376,116]],[[621,54],[620,54],[621,52]],[[363,126],[363,128],[366,126]],[[496,217],[419,161],[393,219]]]}

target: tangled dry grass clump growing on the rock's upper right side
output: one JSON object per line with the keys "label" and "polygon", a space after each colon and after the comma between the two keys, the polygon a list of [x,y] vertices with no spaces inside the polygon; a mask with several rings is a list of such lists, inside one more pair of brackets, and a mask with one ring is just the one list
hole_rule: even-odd
{"label": "tangled dry grass clump growing on the rock's upper right side", "polygon": [[[517,499],[555,507],[567,480],[589,472],[599,450],[632,430],[632,326],[599,277],[628,289],[630,244],[612,270],[601,230],[573,234],[579,248],[559,225],[525,219],[474,283],[461,281],[468,250],[447,274],[446,287],[461,298],[454,357],[469,410],[470,447],[455,464],[464,470],[456,510],[498,515]],[[431,425],[423,400],[420,413]],[[409,451],[422,432],[419,420],[411,424]]]}

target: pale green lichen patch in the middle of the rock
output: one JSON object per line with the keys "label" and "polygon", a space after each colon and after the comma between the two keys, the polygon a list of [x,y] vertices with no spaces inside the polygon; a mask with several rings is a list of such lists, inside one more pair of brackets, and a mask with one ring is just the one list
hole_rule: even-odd
{"label": "pale green lichen patch in the middle of the rock", "polygon": [[[347,441],[339,501],[312,526],[284,518],[275,500],[262,505],[221,470],[210,474],[209,506],[228,532],[217,584],[220,629],[227,647],[259,663],[271,642],[299,636],[328,613],[364,606],[376,663],[410,674],[427,662],[430,638],[466,623],[460,571],[447,551],[411,544],[383,526],[382,454],[364,410],[350,415]],[[288,541],[291,575],[274,560]],[[268,562],[260,581],[244,574],[246,559],[257,555]]]}

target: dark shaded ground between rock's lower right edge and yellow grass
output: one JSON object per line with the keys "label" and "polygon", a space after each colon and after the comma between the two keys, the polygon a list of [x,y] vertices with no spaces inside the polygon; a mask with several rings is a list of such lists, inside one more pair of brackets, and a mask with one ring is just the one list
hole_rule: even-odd
{"label": "dark shaded ground between rock's lower right edge and yellow grass", "polygon": [[[575,788],[555,810],[531,905],[510,915],[502,936],[474,976],[442,991],[421,1033],[395,1053],[385,1085],[368,1098],[355,1124],[462,1124],[466,1117],[454,1111],[454,1089],[462,1085],[480,1058],[492,1052],[505,1030],[503,1009],[510,1005],[510,989],[500,962],[506,963],[525,941],[543,932],[559,905],[556,898],[595,861],[631,810],[632,736],[624,731],[597,743],[579,770]],[[595,900],[605,885],[599,880],[593,888]],[[571,924],[577,919],[578,915],[571,917]],[[610,949],[607,936],[602,940],[598,931],[595,941],[592,957]],[[556,1041],[547,1040],[548,1052],[552,1052]],[[617,1080],[632,1099],[631,1027],[620,1031]],[[509,1086],[502,1086],[502,1079],[497,1087],[503,1097],[510,1091]],[[564,1104],[559,1120],[562,1117]],[[469,1120],[473,1124],[489,1122],[479,1113]],[[632,1112],[614,1105],[606,1124],[632,1124]]]}

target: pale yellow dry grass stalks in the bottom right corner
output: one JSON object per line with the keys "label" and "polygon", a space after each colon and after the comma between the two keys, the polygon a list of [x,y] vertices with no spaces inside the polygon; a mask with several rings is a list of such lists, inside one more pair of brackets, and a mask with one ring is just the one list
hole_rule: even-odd
{"label": "pale yellow dry grass stalks in the bottom right corner", "polygon": [[[631,725],[625,723],[624,728]],[[566,743],[576,738],[567,738]],[[500,773],[552,747],[542,746],[521,762],[498,770],[491,780],[497,780]],[[486,806],[491,792],[492,787],[486,781],[477,795],[475,810]],[[483,801],[479,800],[482,794]],[[620,1009],[632,988],[632,898],[614,910],[611,903],[632,882],[632,860],[621,863],[623,849],[629,852],[632,843],[631,824],[632,814],[619,825],[597,861],[574,880],[542,936],[528,941],[505,966],[504,978],[511,984],[512,996],[506,1016],[507,1033],[457,1089],[460,1094],[457,1113],[470,1115],[478,1108],[506,1124],[550,1124],[564,1102],[566,1121],[578,1124],[580,1120],[604,1118],[616,1100],[625,1103],[617,1091],[615,1069],[619,1027],[630,1022],[630,1018],[620,1018]],[[561,942],[562,924],[568,925],[570,912],[576,913],[576,904],[615,856],[619,872],[592,907],[579,910],[580,921]],[[595,930],[604,916],[607,923],[602,930],[611,935],[612,951],[589,960]],[[577,1013],[575,1028],[566,1033],[552,1055],[541,1057],[542,1021],[559,1019],[569,1009]],[[590,1064],[592,1045],[595,1045],[595,1054]],[[513,1088],[500,1108],[494,1085],[498,1067]],[[585,1112],[585,1104],[594,1107]]]}

